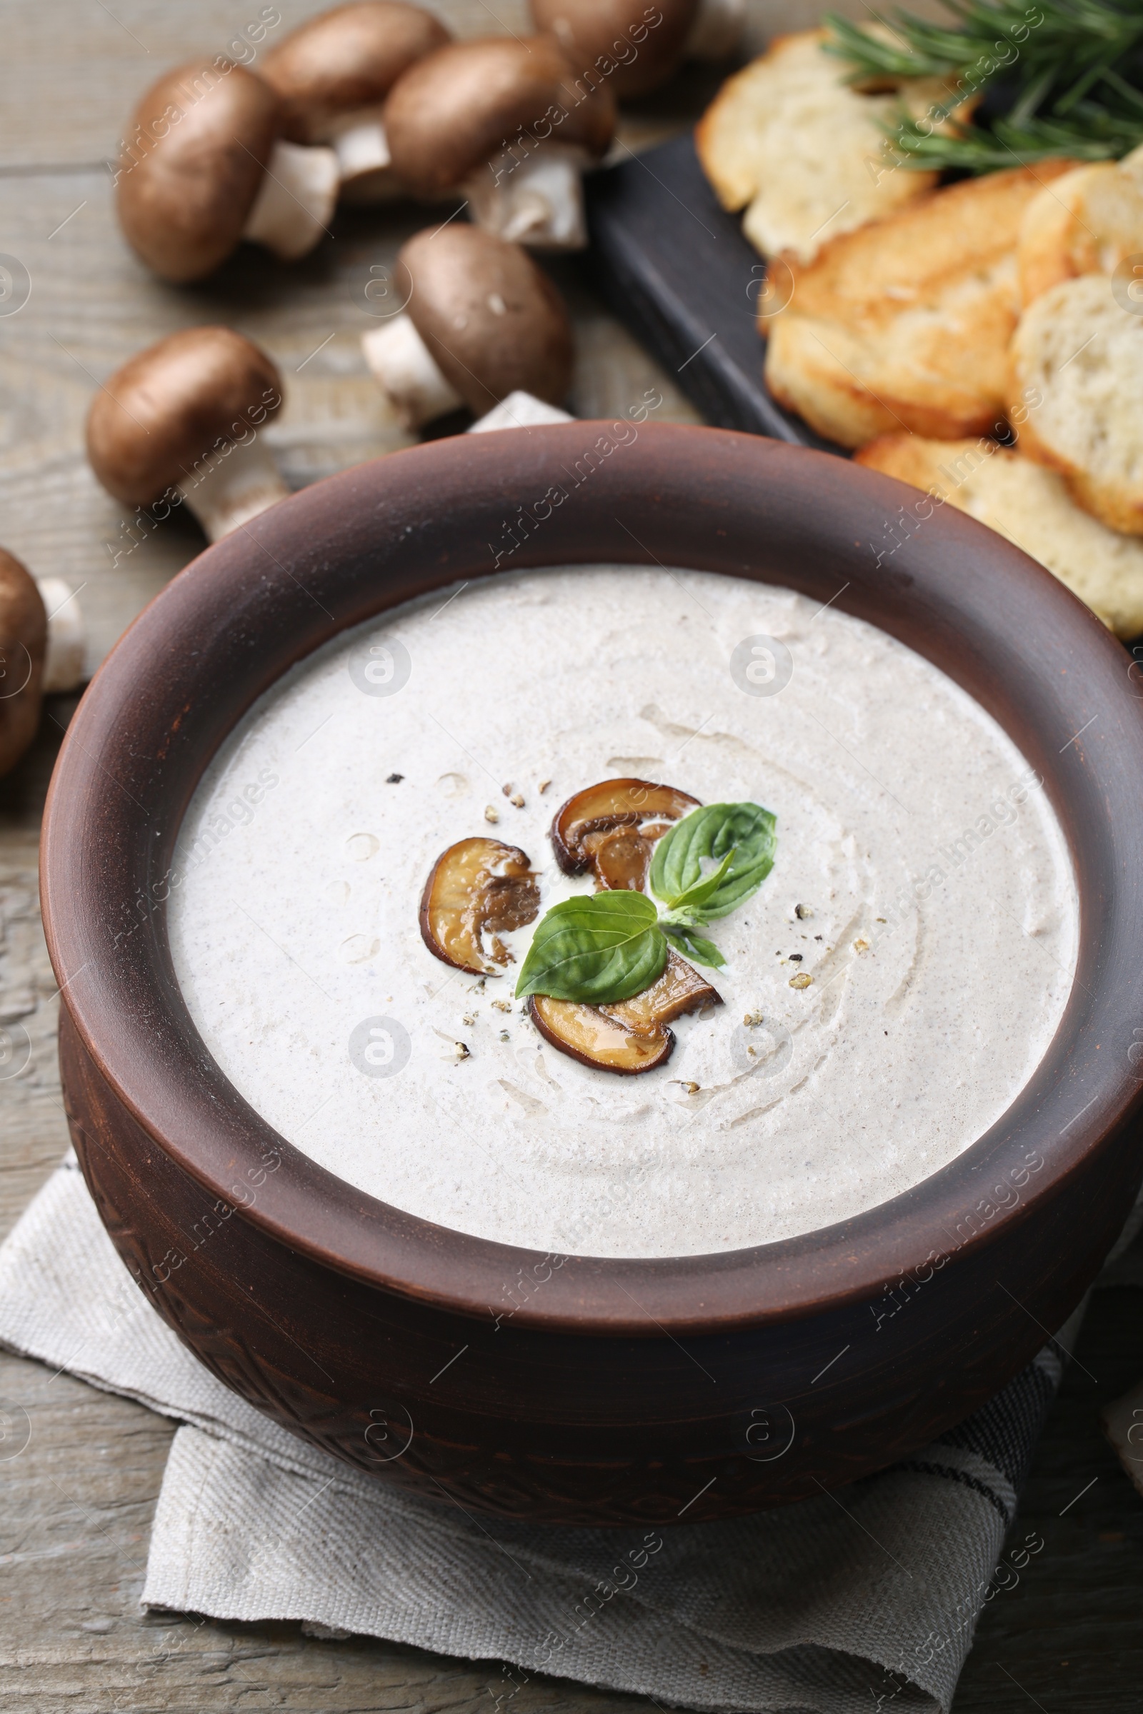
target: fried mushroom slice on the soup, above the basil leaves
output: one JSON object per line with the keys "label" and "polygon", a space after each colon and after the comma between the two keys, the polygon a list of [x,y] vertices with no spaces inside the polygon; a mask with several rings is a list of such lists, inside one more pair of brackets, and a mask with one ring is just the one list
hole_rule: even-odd
{"label": "fried mushroom slice on the soup, above the basil leaves", "polygon": [[596,888],[643,891],[651,854],[672,823],[699,807],[697,797],[651,780],[600,780],[569,797],[552,823],[564,874],[591,869]]}

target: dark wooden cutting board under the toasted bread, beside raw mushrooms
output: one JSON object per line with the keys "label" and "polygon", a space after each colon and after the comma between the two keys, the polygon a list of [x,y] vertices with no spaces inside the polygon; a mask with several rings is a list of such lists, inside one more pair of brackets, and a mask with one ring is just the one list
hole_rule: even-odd
{"label": "dark wooden cutting board under the toasted bread, beside raw mushrooms", "polygon": [[694,135],[593,173],[586,190],[596,285],[706,420],[840,451],[766,391],[756,329],[766,266],[718,206]]}

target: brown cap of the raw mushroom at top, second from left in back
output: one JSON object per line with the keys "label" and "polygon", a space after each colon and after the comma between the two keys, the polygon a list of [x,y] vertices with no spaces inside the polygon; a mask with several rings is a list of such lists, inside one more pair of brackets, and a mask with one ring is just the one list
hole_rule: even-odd
{"label": "brown cap of the raw mushroom at top, second from left in back", "polygon": [[262,60],[286,110],[291,142],[322,142],[329,123],[377,106],[398,77],[452,36],[432,12],[401,0],[360,0],[320,12]]}

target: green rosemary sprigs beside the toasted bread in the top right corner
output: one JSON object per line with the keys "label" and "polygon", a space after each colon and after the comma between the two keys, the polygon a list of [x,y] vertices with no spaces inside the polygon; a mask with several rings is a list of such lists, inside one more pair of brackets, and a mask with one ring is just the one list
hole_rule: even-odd
{"label": "green rosemary sprigs beside the toasted bread in the top right corner", "polygon": [[[1143,142],[1143,3],[1140,0],[943,0],[943,27],[895,9],[889,36],[828,17],[826,48],[850,82],[937,77],[948,96],[922,118],[905,108],[888,127],[903,166],[989,173],[1016,161],[1114,159]],[[990,86],[1011,108],[985,123],[951,115]]]}

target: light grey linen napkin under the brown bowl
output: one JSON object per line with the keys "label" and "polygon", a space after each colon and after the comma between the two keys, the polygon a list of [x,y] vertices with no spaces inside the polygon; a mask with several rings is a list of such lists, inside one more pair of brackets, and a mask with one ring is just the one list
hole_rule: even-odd
{"label": "light grey linen napkin under the brown bowl", "polygon": [[535,1673],[694,1709],[948,1711],[1061,1375],[1054,1342],[915,1457],[730,1524],[476,1520],[358,1476],[214,1380],[120,1263],[74,1155],[0,1250],[0,1340],[185,1424],[146,1604],[514,1663],[488,1669],[495,1714]]}

